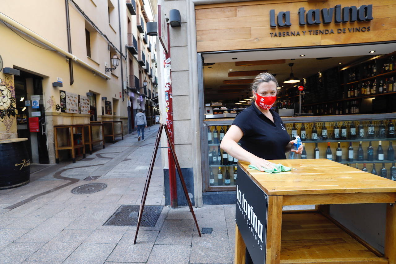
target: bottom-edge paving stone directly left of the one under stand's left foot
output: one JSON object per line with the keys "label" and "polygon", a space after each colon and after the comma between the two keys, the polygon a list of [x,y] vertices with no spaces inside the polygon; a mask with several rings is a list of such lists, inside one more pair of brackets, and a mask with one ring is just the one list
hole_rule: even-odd
{"label": "bottom-edge paving stone directly left of the one under stand's left foot", "polygon": [[82,243],[63,264],[102,264],[116,244]]}

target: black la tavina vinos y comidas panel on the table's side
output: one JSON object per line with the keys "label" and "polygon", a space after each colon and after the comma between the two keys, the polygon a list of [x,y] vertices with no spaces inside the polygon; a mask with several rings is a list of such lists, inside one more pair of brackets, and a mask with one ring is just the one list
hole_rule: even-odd
{"label": "black la tavina vinos y comidas panel on the table's side", "polygon": [[268,195],[237,170],[235,220],[253,263],[265,263]]}

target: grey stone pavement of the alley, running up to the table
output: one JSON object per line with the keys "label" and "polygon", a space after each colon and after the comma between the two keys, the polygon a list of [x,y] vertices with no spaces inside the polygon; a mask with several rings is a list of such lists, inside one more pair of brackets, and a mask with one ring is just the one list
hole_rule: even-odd
{"label": "grey stone pavement of the alley, running up to the table", "polygon": [[[157,132],[152,126],[139,142],[134,132],[74,164],[38,170],[25,186],[0,190],[0,263],[232,263],[235,205],[194,208],[200,228],[213,228],[201,238],[188,207],[165,206],[154,227],[140,228],[136,245],[136,227],[103,225],[120,205],[140,204]],[[108,187],[71,193],[93,182]],[[146,205],[164,205],[163,194],[158,156]]]}

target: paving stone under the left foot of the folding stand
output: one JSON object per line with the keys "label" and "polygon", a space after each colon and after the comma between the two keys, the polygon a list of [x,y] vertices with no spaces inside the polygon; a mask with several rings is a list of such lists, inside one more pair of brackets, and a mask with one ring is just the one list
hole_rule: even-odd
{"label": "paving stone under the left foot of the folding stand", "polygon": [[158,231],[139,230],[136,244],[133,245],[135,231],[127,231],[110,254],[109,262],[147,262]]}

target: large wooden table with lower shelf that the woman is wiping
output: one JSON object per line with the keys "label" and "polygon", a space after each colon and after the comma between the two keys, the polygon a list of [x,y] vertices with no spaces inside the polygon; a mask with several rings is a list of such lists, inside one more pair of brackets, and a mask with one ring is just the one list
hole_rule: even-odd
{"label": "large wooden table with lower shelf that the woman is wiping", "polygon": [[[235,263],[245,263],[247,246],[252,259],[252,253],[263,258],[254,263],[396,264],[396,182],[327,159],[272,162],[296,170],[268,174],[238,162]],[[330,206],[381,203],[384,211],[386,203],[385,254],[329,214]],[[283,212],[284,205],[319,206]]]}

